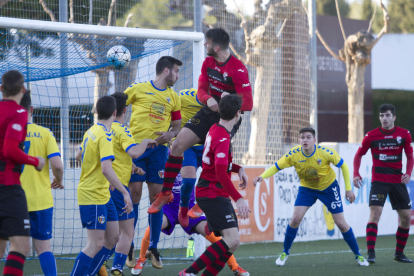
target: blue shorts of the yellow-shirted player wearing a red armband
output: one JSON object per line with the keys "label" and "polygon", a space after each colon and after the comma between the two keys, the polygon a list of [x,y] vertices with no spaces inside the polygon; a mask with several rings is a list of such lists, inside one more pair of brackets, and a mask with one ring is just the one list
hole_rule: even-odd
{"label": "blue shorts of the yellow-shirted player wearing a red armband", "polygon": [[168,159],[168,148],[159,145],[147,148],[143,155],[134,160],[134,164],[145,171],[144,175],[133,174],[129,182],[151,182],[163,184],[165,163]]}

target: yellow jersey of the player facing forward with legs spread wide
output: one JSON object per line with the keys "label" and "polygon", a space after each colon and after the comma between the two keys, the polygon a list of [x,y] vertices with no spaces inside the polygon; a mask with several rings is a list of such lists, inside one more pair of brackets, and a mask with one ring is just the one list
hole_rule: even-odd
{"label": "yellow jersey of the player facing forward with legs spread wide", "polygon": [[336,178],[330,166],[331,163],[338,168],[344,163],[344,160],[333,149],[315,145],[313,153],[306,156],[302,151],[302,146],[296,146],[280,158],[275,166],[278,170],[295,167],[301,186],[322,191],[328,188]]}

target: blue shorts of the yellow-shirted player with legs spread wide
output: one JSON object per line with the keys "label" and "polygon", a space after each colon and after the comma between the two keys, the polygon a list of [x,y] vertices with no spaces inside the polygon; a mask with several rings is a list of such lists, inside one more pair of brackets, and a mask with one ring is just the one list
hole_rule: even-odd
{"label": "blue shorts of the yellow-shirted player with legs spread wide", "polygon": [[295,206],[312,206],[317,199],[319,199],[332,214],[338,214],[344,211],[341,192],[336,180],[323,191],[299,186]]}

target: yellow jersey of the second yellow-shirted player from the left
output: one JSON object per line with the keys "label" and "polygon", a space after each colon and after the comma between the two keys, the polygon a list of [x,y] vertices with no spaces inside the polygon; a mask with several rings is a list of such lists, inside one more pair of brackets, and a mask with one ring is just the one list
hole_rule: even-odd
{"label": "yellow jersey of the second yellow-shirted player from the left", "polygon": [[95,124],[83,135],[82,171],[78,185],[79,205],[103,205],[111,197],[109,182],[102,173],[101,162],[114,160],[112,131]]}

